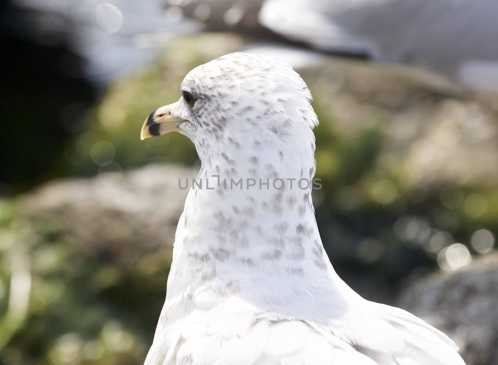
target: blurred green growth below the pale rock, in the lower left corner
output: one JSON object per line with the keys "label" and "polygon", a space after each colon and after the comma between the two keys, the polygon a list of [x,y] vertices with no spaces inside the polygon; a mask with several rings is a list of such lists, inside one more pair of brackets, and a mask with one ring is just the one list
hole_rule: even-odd
{"label": "blurred green growth below the pale rock, in the lower left corner", "polygon": [[[143,362],[164,302],[171,247],[119,260],[119,244],[89,249],[57,222],[38,226],[13,211],[2,210],[9,219],[0,231],[3,364]],[[29,296],[22,295],[26,288]]]}

